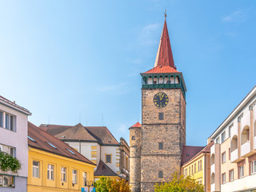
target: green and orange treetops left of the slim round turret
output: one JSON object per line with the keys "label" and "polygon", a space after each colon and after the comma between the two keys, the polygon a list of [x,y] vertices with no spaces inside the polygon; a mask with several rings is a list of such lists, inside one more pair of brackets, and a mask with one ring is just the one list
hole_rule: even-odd
{"label": "green and orange treetops left of the slim round turret", "polygon": [[125,180],[117,181],[107,177],[100,177],[94,183],[97,192],[130,192],[129,183]]}

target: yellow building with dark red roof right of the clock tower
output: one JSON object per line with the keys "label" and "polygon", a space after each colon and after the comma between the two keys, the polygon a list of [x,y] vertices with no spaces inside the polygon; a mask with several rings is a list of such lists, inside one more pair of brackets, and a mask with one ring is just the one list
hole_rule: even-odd
{"label": "yellow building with dark red roof right of the clock tower", "polygon": [[210,142],[206,147],[184,146],[182,155],[182,174],[196,179],[210,192]]}

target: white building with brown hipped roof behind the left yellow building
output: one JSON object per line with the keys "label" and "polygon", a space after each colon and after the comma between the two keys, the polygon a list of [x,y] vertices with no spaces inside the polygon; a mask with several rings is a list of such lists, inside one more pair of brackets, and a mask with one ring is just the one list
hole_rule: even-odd
{"label": "white building with brown hipped roof behind the left yellow building", "polygon": [[78,123],[76,126],[42,124],[39,127],[94,162],[97,165],[95,179],[100,176],[129,179],[129,146],[123,138],[118,142],[106,126]]}

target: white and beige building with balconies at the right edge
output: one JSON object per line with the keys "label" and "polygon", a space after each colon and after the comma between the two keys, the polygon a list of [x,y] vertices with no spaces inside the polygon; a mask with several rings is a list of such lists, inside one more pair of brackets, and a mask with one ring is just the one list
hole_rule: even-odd
{"label": "white and beige building with balconies at the right edge", "polygon": [[256,86],[210,136],[211,191],[256,191]]}

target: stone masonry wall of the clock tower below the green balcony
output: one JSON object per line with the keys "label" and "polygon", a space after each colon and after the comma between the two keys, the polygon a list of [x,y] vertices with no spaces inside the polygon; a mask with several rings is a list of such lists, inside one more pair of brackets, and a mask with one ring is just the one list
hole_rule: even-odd
{"label": "stone masonry wall of the clock tower below the green balcony", "polygon": [[[154,95],[167,94],[165,107],[154,106]],[[164,113],[159,120],[158,114]],[[159,142],[163,149],[159,150]],[[170,182],[181,171],[182,146],[186,144],[186,102],[181,89],[142,90],[141,191],[154,192],[156,182]],[[162,177],[158,178],[159,171]]]}

